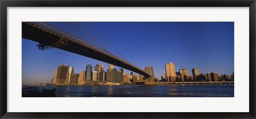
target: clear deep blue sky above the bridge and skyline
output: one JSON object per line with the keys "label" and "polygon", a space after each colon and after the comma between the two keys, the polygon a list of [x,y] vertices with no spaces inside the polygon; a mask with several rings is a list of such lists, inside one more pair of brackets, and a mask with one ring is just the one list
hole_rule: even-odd
{"label": "clear deep blue sky above the bridge and skyline", "polygon": [[[73,35],[60,22],[49,22]],[[83,39],[100,47],[74,22],[66,22]],[[119,56],[89,22],[80,22],[111,53]],[[93,22],[124,58],[144,69],[154,66],[161,79],[165,64],[173,62],[175,71],[197,67],[199,73],[234,72],[234,22]],[[60,64],[73,66],[75,73],[100,61],[52,48],[39,50],[35,41],[22,39],[22,84],[50,83]],[[105,65],[105,70],[108,64]],[[119,69],[119,67],[114,66]],[[131,72],[124,70],[124,72]]]}

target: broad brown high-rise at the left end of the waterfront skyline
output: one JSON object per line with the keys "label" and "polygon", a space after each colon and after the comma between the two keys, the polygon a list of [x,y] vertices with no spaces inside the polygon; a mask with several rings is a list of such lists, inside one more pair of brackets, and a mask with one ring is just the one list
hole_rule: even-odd
{"label": "broad brown high-rise at the left end of the waterfront skyline", "polygon": [[56,79],[56,84],[64,84],[66,79],[68,79],[68,69],[69,66],[67,65],[59,65],[58,66],[58,71],[57,71],[57,79]]}

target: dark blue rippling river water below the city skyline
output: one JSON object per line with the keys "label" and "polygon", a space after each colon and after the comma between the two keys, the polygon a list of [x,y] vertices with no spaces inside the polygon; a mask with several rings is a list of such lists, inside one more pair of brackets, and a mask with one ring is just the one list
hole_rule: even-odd
{"label": "dark blue rippling river water below the city skyline", "polygon": [[234,84],[38,86],[56,89],[56,97],[234,97]]}

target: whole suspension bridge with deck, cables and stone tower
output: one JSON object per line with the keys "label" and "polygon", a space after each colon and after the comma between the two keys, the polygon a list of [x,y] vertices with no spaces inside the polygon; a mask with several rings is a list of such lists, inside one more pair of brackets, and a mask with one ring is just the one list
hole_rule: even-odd
{"label": "whole suspension bridge with deck, cables and stone tower", "polygon": [[[99,32],[95,25],[93,25],[92,22],[90,23],[93,28]],[[70,31],[74,31],[68,27],[67,24],[62,24],[65,25]],[[97,39],[95,39],[95,37],[93,37],[93,35],[91,35],[90,32],[83,27],[82,24],[79,22],[76,22],[76,24],[101,48],[82,39],[81,35],[76,32],[74,32],[76,36],[71,35],[71,33],[61,30],[60,28],[57,28],[47,22],[22,22],[22,38],[36,41],[38,43],[38,48],[41,50],[55,47],[71,53],[123,67],[124,69],[143,75],[146,79],[145,83],[147,85],[154,84],[155,78],[153,67],[145,67],[145,70],[143,70],[140,69],[140,67],[126,61],[124,57],[102,35],[102,33],[99,32],[100,35],[109,43],[109,45],[113,47],[114,50],[123,58],[108,52],[108,50],[106,50],[103,45],[101,45],[99,41],[97,41]]]}

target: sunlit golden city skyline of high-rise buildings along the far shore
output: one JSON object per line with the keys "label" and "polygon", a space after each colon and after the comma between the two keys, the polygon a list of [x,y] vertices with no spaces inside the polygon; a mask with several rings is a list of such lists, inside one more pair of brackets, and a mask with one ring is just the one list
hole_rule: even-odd
{"label": "sunlit golden city skyline of high-rise buildings along the far shore", "polygon": [[[99,62],[101,65],[101,62]],[[167,63],[166,65],[172,65],[170,67],[173,68],[173,63]],[[91,64],[87,64],[86,70],[82,70],[81,73],[74,73],[74,67],[67,66],[65,64],[58,65],[58,68],[53,72],[53,78],[51,83],[39,83],[39,84],[52,84],[52,85],[68,85],[68,84],[91,84],[94,82],[115,82],[115,83],[136,83],[136,82],[145,82],[145,78],[143,75],[137,74],[135,72],[131,72],[128,74],[123,72],[123,69],[117,70],[114,68],[114,65],[108,64],[108,69],[105,70],[102,67],[99,67],[98,64],[94,66],[94,71],[91,69],[87,69],[87,67]],[[100,68],[100,69],[99,69]],[[166,66],[166,73],[170,70],[167,70],[168,66]],[[233,74],[220,74],[217,72],[209,72],[209,73],[199,73],[198,68],[191,69],[194,72],[192,75],[189,75],[187,69],[179,69],[179,72],[175,72],[175,76],[173,75],[161,75],[161,80],[164,82],[194,82],[194,81],[234,81],[234,73]],[[154,72],[154,71],[153,71]],[[173,71],[172,71],[173,72]],[[154,74],[153,74],[154,75]],[[61,81],[62,80],[62,81]],[[86,83],[87,82],[87,83]]]}

